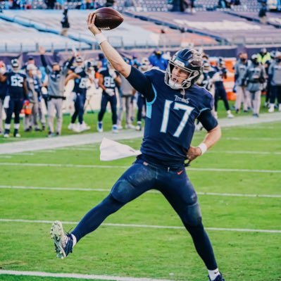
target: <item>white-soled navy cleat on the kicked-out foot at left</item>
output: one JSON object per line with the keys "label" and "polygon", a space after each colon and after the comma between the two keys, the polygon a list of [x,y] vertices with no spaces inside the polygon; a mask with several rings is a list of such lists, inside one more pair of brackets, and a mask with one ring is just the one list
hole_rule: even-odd
{"label": "white-soled navy cleat on the kicked-out foot at left", "polygon": [[63,224],[56,220],[51,225],[51,239],[54,240],[54,246],[57,258],[66,258],[73,251],[73,238],[70,234],[64,232]]}

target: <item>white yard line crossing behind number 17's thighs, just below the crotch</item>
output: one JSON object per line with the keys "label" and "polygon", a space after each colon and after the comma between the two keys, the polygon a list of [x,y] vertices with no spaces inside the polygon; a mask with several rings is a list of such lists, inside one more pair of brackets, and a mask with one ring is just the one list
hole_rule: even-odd
{"label": "white yard line crossing behind number 17's thighs, just below the crotch", "polygon": [[[39,189],[39,190],[59,190],[74,192],[110,192],[111,189],[102,188],[82,188],[82,187],[25,187],[18,185],[0,185],[0,189]],[[157,190],[150,190],[150,193],[159,194]],[[219,192],[196,192],[198,195],[229,196],[229,197],[254,197],[254,198],[281,198],[281,194],[242,194],[242,193],[219,193]]]}

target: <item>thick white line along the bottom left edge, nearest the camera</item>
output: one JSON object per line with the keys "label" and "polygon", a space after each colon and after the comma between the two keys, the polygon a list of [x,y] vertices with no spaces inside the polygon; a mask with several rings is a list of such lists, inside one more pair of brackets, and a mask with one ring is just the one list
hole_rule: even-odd
{"label": "thick white line along the bottom left edge, nearest the camera", "polygon": [[56,278],[72,278],[86,280],[111,280],[111,281],[170,281],[164,279],[137,278],[137,277],[120,277],[111,275],[89,275],[80,273],[45,273],[41,271],[18,271],[18,270],[0,270],[0,275],[24,275],[38,277],[56,277]]}

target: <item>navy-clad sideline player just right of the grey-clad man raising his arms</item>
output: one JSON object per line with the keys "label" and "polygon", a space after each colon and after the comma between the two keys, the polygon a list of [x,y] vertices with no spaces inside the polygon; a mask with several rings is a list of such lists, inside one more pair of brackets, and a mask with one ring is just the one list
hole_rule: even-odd
{"label": "navy-clad sideline player just right of the grey-clad man raising his arms", "polygon": [[[84,122],[84,106],[86,101],[87,94],[87,82],[90,79],[87,69],[85,65],[83,65],[84,61],[81,56],[77,56],[75,58],[76,67],[73,69],[74,73],[70,73],[65,80],[65,85],[69,80],[74,79],[74,88],[73,93],[75,96],[74,108],[75,111],[71,116],[71,123],[68,125],[69,130],[74,130],[75,132],[83,132],[89,130],[90,127]],[[75,127],[75,121],[78,116],[78,127]]]}

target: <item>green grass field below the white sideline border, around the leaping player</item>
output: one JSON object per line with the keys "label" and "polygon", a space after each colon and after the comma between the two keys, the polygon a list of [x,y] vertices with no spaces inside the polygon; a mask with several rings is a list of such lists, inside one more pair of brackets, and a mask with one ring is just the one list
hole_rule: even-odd
{"label": "green grass field below the white sideline border, around the leaping player", "polygon": [[[281,280],[280,127],[224,128],[220,142],[187,168],[226,281]],[[203,136],[196,132],[193,144]],[[138,149],[141,139],[123,143]],[[157,192],[108,217],[65,260],[55,258],[50,222],[59,219],[68,222],[66,230],[75,227],[133,158],[100,162],[99,144],[9,156],[0,158],[0,270],[208,279],[180,219]],[[0,280],[74,279],[0,275]]]}

